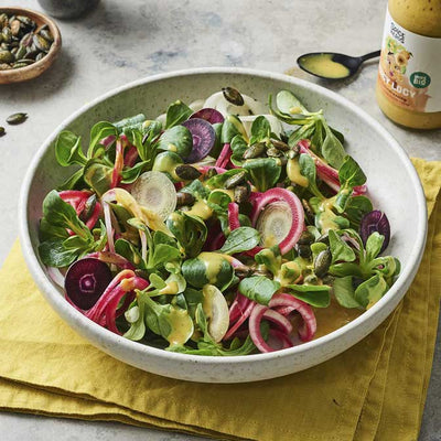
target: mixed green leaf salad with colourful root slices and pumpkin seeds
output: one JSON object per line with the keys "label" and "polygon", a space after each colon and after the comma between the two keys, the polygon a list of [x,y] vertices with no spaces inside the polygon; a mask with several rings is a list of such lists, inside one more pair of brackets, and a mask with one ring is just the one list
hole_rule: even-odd
{"label": "mixed green leaf salad with colourful root slices and pumpkin seeds", "polygon": [[43,202],[39,254],[73,308],[126,338],[283,349],[363,313],[400,271],[343,135],[290,90],[267,105],[225,87],[99,121],[86,144],[57,137],[75,172]]}

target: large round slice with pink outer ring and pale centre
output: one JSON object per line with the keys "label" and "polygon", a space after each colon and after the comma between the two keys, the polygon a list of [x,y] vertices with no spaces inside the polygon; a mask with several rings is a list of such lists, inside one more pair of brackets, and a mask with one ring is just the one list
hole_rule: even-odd
{"label": "large round slice with pink outer ring and pale centre", "polygon": [[[275,203],[276,205],[271,207]],[[263,216],[262,220],[260,216]],[[288,223],[289,228],[283,222]],[[278,187],[267,190],[254,197],[251,224],[259,230],[263,243],[265,238],[268,240],[275,237],[281,254],[284,255],[294,247],[304,229],[302,203],[289,190]]]}

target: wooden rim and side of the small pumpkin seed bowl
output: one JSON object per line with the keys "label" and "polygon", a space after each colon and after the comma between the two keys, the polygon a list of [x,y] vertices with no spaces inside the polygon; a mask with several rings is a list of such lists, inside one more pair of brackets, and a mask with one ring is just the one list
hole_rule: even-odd
{"label": "wooden rim and side of the small pumpkin seed bowl", "polygon": [[42,60],[25,67],[10,71],[0,71],[0,84],[21,83],[37,77],[52,65],[52,63],[58,55],[60,49],[62,47],[62,35],[57,25],[49,17],[42,14],[41,12],[31,11],[30,9],[0,8],[0,13],[2,12],[7,13],[8,15],[29,17],[36,23],[37,29],[40,29],[43,24],[47,24],[52,36],[54,37],[54,42],[52,43],[47,54]]}

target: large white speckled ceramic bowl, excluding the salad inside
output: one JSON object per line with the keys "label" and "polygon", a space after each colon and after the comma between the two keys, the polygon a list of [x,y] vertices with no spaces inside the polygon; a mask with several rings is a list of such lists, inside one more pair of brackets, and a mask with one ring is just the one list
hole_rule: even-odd
{"label": "large white speckled ceramic bowl, excluding the salad inside", "polygon": [[[347,151],[366,172],[374,205],[387,213],[392,230],[388,254],[400,259],[402,269],[392,288],[367,312],[340,330],[300,346],[239,357],[169,353],[126,340],[89,321],[65,301],[47,277],[36,254],[42,201],[69,173],[56,164],[54,140],[66,128],[87,140],[96,121],[118,120],[138,112],[153,118],[178,98],[190,103],[225,86],[236,87],[263,103],[268,94],[288,88],[309,109],[324,109],[330,123],[345,135]],[[21,244],[28,266],[43,295],[64,321],[92,344],[130,365],[173,378],[209,383],[254,381],[292,374],[361,341],[405,295],[418,269],[427,233],[426,201],[418,175],[405,151],[377,121],[325,88],[284,75],[241,68],[201,68],[151,76],[84,106],[56,128],[36,153],[22,186],[20,213]]]}

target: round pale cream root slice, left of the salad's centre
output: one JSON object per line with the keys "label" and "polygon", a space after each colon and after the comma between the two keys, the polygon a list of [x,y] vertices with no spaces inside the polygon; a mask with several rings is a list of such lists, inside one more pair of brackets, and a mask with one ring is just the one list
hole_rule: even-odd
{"label": "round pale cream root slice, left of the salad's centre", "polygon": [[176,208],[176,191],[165,174],[157,171],[142,173],[131,187],[139,205],[165,220]]}

